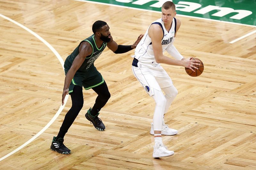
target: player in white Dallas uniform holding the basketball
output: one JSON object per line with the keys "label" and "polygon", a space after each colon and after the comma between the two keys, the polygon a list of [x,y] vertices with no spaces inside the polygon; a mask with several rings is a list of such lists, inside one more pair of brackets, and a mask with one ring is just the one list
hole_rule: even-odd
{"label": "player in white Dallas uniform holding the basketball", "polygon": [[[162,18],[157,19],[149,26],[135,49],[132,62],[134,76],[156,102],[150,130],[150,134],[154,134],[155,139],[154,158],[172,156],[174,154],[173,151],[168,151],[164,146],[161,135],[176,135],[178,133],[177,130],[170,129],[164,124],[164,114],[178,91],[159,63],[184,66],[191,70],[193,68],[198,69],[194,65],[200,65],[196,63],[199,62],[197,60],[190,61],[190,58],[185,59],[173,46],[176,33],[180,28],[180,20],[174,18],[175,16],[175,5],[171,1],[165,2],[162,6]],[[164,51],[167,51],[175,59],[163,55]]]}

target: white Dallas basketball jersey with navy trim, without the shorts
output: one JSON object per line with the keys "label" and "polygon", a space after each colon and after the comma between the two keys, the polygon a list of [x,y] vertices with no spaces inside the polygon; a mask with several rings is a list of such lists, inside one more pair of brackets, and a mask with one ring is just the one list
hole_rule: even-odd
{"label": "white Dallas basketball jersey with navy trim, without the shorts", "polygon": [[[152,24],[158,24],[162,27],[162,30],[164,33],[163,38],[162,38],[162,49],[163,49],[163,53],[164,53],[166,48],[172,42],[172,39],[174,38],[174,35],[176,33],[176,18],[172,19],[172,27],[169,32],[165,29],[164,22],[162,21],[162,18],[157,19]],[[143,38],[140,40],[139,44],[137,45],[137,47],[135,49],[134,58],[138,59],[141,63],[156,62],[154,52],[153,52],[152,41],[148,35],[148,30],[146,31]]]}

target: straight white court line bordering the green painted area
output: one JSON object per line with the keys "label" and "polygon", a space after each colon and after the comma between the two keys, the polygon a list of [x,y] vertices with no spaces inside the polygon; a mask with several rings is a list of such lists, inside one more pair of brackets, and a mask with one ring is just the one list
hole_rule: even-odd
{"label": "straight white court line bordering the green painted area", "polygon": [[[87,1],[87,0],[73,0],[73,1],[88,2],[88,3],[94,3],[94,4],[116,6],[116,7],[121,7],[121,8],[129,8],[129,9],[140,10],[140,11],[150,11],[150,12],[162,13],[160,11],[151,11],[151,10],[145,10],[145,9],[140,9],[140,8],[128,7],[128,6],[122,6],[122,5],[115,5],[115,4],[107,4],[107,3],[94,2],[94,1]],[[252,26],[252,25],[240,24],[240,23],[229,22],[229,21],[221,21],[221,20],[217,20],[217,19],[200,18],[200,17],[193,17],[193,16],[181,15],[181,14],[177,14],[177,16],[182,16],[182,17],[187,17],[187,18],[203,19],[203,20],[208,20],[208,21],[216,21],[216,22],[222,22],[222,23],[228,23],[228,24],[236,24],[236,25],[242,25],[242,26],[256,27],[256,26]]]}

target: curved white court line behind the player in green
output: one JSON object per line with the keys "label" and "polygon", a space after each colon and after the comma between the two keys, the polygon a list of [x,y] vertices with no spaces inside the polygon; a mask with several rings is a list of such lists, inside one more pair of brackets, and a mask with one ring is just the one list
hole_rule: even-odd
{"label": "curved white court line behind the player in green", "polygon": [[[28,31],[29,33],[33,34],[36,38],[38,38],[40,41],[42,41],[48,48],[50,48],[52,50],[52,52],[56,55],[56,57],[58,58],[58,60],[60,61],[62,68],[64,70],[64,61],[61,58],[60,54],[47,42],[45,41],[42,37],[40,37],[39,35],[37,35],[35,32],[33,32],[32,30],[28,29],[26,26],[21,25],[20,23],[12,20],[11,18],[8,18],[2,14],[0,14],[0,17],[7,19],[9,21],[11,21],[12,23],[20,26],[21,28],[25,29],[26,31]],[[7,155],[3,156],[2,158],[0,158],[0,161],[9,157],[10,155],[12,155],[13,153],[19,151],[20,149],[22,149],[23,147],[25,147],[27,144],[29,144],[30,142],[32,142],[33,140],[36,139],[36,137],[38,137],[39,135],[41,135],[56,119],[57,117],[60,115],[61,111],[63,110],[63,108],[65,107],[66,103],[68,100],[68,95],[66,95],[65,100],[64,100],[64,105],[60,105],[59,110],[57,111],[57,113],[52,117],[52,120],[50,120],[50,122],[47,123],[46,126],[44,126],[44,128],[42,130],[40,130],[40,132],[38,132],[35,136],[33,136],[31,139],[29,139],[26,143],[22,144],[20,147],[18,147],[17,149],[15,149],[14,151],[8,153]]]}

